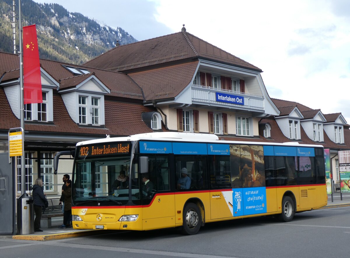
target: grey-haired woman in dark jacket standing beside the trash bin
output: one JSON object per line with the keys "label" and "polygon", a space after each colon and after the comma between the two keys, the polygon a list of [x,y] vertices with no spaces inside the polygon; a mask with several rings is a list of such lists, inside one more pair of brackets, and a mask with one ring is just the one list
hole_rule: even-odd
{"label": "grey-haired woman in dark jacket standing beside the trash bin", "polygon": [[42,207],[45,207],[46,197],[44,194],[44,190],[42,188],[43,181],[41,178],[37,178],[35,180],[34,186],[32,189],[33,194],[33,204],[34,204],[34,211],[35,211],[35,219],[34,219],[34,232],[42,232],[40,229],[40,220],[41,220],[41,212]]}

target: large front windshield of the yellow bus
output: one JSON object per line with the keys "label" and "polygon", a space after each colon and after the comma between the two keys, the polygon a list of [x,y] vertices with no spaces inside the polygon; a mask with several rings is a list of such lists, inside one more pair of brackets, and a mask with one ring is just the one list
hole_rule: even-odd
{"label": "large front windshield of the yellow bus", "polygon": [[[72,200],[75,205],[126,204],[129,199],[130,156],[76,160]],[[135,188],[135,187],[132,187]],[[139,189],[132,189],[136,192]],[[136,198],[136,197],[135,197]],[[107,204],[109,203],[109,204]]]}

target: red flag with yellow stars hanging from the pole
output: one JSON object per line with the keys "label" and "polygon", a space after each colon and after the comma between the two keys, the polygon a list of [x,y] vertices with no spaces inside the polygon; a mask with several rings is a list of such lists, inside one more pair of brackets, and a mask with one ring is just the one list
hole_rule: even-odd
{"label": "red flag with yellow stars hanging from the pole", "polygon": [[36,27],[23,27],[24,104],[42,103],[41,74]]}

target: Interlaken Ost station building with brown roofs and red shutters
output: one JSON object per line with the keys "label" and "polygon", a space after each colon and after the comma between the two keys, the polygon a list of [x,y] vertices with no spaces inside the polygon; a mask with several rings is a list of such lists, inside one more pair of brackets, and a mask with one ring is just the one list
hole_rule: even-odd
{"label": "Interlaken Ost station building with brown roofs and red shutters", "polygon": [[[0,60],[4,153],[9,128],[20,127],[20,72],[18,55],[0,52]],[[217,134],[223,140],[320,144],[330,149],[335,181],[337,151],[350,149],[350,125],[341,113],[323,114],[270,98],[260,68],[184,27],[115,47],[84,65],[43,59],[40,64],[43,103],[25,105],[28,193],[42,177],[47,196],[60,196],[72,157],[63,157],[54,175],[54,155],[96,138],[170,131]],[[20,159],[14,162],[20,194]]]}

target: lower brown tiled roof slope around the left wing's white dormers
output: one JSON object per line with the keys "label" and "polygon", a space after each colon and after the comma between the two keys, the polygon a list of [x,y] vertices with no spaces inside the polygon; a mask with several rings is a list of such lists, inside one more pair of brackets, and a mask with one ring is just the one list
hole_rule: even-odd
{"label": "lower brown tiled roof slope around the left wing's white dormers", "polygon": [[[25,130],[29,133],[52,133],[52,134],[81,134],[127,136],[137,133],[152,132],[141,120],[142,112],[155,111],[152,107],[139,104],[129,104],[105,100],[105,128],[93,126],[79,126],[69,116],[61,96],[54,95],[54,123],[25,122]],[[10,109],[5,92],[0,88],[0,130],[19,127],[20,120]]]}

